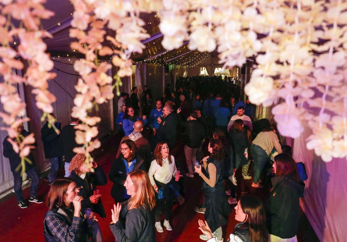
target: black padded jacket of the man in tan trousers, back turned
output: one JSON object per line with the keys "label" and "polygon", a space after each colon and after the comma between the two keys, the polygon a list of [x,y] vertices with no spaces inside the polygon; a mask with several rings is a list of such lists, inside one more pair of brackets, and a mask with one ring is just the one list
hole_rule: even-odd
{"label": "black padded jacket of the man in tan trousers, back turned", "polygon": [[189,148],[199,148],[201,141],[205,137],[204,125],[197,120],[184,121],[180,114],[177,114],[177,118],[179,124],[186,128],[184,133],[184,144]]}

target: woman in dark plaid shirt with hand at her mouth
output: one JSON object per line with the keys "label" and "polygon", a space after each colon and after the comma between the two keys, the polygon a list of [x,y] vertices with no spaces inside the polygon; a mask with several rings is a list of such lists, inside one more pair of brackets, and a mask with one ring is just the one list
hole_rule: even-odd
{"label": "woman in dark plaid shirt with hand at her mouth", "polygon": [[[44,219],[46,242],[85,241],[82,234],[81,201],[79,189],[71,178],[57,179],[49,191],[49,211]],[[73,205],[71,205],[73,204]],[[83,238],[82,238],[83,237]]]}

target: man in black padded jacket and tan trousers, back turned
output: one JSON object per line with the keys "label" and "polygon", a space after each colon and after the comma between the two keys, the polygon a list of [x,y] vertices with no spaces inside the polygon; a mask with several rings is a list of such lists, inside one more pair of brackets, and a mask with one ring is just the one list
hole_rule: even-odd
{"label": "man in black padded jacket and tan trousers, back turned", "polygon": [[180,125],[186,128],[184,135],[184,155],[186,157],[188,177],[194,177],[194,162],[196,160],[196,151],[201,145],[202,140],[205,137],[204,125],[197,121],[197,113],[195,111],[190,112],[189,121],[184,121],[179,114],[181,111],[177,109],[177,118]]}

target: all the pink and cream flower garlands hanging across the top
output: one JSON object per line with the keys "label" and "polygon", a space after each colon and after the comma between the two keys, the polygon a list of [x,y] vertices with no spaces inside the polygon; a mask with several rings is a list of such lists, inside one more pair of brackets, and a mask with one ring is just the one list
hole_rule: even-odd
{"label": "all the pink and cream flower garlands hanging across the top", "polygon": [[[74,68],[81,75],[76,85],[72,116],[82,120],[76,140],[83,147],[76,152],[89,152],[100,146],[94,125],[99,117],[88,117],[88,111],[119,95],[120,77],[132,74],[130,55],[142,53],[141,40],[149,35],[144,30],[141,12],[155,12],[160,19],[162,46],[172,50],[189,40],[189,49],[219,53],[224,67],[242,66],[247,57],[256,56],[259,69],[245,86],[249,100],[264,106],[280,98],[285,103],[273,109],[279,131],[296,138],[307,125],[312,135],[307,148],[315,150],[324,161],[345,157],[347,150],[347,3],[345,1],[266,1],[266,0],[70,0],[74,5],[70,37],[77,41],[71,48],[85,55]],[[45,54],[39,30],[40,18],[52,12],[42,6],[44,0],[0,0],[0,84],[4,113],[1,118],[16,138],[15,126],[24,114],[25,104],[15,91],[16,83],[34,87],[37,106],[52,111],[55,97],[47,91],[47,80],[53,64]],[[16,28],[11,18],[25,28]],[[111,31],[115,34],[110,34]],[[13,48],[10,43],[18,39]],[[12,69],[23,69],[16,59],[22,56],[29,67],[24,77]],[[100,60],[111,56],[111,63]],[[112,64],[118,67],[111,78]],[[115,79],[115,81],[113,81]],[[313,109],[319,109],[315,115]],[[293,132],[288,132],[293,131]],[[17,147],[16,147],[17,149]],[[20,147],[19,147],[20,149]],[[19,152],[19,150],[18,150]]]}

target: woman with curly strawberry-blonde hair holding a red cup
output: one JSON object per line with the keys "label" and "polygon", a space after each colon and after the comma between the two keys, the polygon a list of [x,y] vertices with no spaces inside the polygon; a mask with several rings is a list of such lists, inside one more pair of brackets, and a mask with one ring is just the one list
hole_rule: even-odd
{"label": "woman with curly strawberry-blonde hair holding a red cup", "polygon": [[[94,172],[91,172],[92,168]],[[81,213],[91,219],[88,220],[86,230],[92,242],[101,242],[102,234],[94,213],[99,214],[102,218],[106,217],[106,214],[101,202],[101,194],[96,194],[99,192],[96,186],[106,185],[107,176],[93,159],[87,164],[86,157],[83,154],[77,154],[72,158],[69,171],[71,173],[69,177],[75,181],[76,186],[79,188],[78,195],[83,197]],[[97,190],[97,192],[94,193],[94,190]],[[87,210],[88,208],[90,210]],[[87,211],[87,214],[85,211]],[[91,211],[91,213],[89,214],[88,211]]]}

